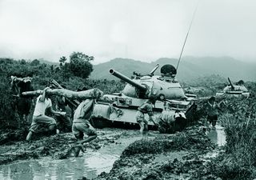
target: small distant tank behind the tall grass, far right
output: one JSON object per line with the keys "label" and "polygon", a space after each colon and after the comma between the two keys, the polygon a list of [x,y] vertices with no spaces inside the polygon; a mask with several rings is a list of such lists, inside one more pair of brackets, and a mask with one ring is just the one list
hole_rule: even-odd
{"label": "small distant tank behind the tall grass, far right", "polygon": [[238,81],[235,85],[227,78],[229,85],[226,86],[222,92],[216,93],[216,97],[246,97],[250,96],[249,90],[244,86],[242,80]]}

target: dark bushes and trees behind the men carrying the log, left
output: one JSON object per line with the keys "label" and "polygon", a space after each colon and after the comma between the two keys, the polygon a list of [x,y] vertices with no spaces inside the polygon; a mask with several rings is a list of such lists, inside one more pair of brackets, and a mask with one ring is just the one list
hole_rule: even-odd
{"label": "dark bushes and trees behind the men carrying the log, left", "polygon": [[87,86],[88,88],[97,87],[106,94],[119,92],[124,84],[120,81],[109,81],[106,79],[92,80],[88,78],[93,70],[90,63],[93,57],[80,52],[70,55],[70,62],[66,57],[61,57],[58,65],[49,65],[34,59],[32,62],[25,60],[14,60],[11,58],[0,58],[0,128],[13,127],[17,125],[17,115],[15,114],[15,97],[10,90],[10,76],[20,78],[30,76],[33,78],[32,85],[34,90],[42,90],[50,86],[50,80],[55,79],[58,83],[66,86],[68,90],[78,90]]}

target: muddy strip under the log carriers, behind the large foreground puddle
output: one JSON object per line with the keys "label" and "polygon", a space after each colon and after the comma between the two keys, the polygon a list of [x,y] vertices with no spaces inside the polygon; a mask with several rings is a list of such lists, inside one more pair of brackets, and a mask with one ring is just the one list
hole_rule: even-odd
{"label": "muddy strip under the log carriers, behind the large foreground puddle", "polygon": [[[26,131],[14,130],[9,133],[2,132],[0,148],[0,165],[17,160],[50,157],[53,159],[66,159],[74,157],[72,147],[76,143],[74,134],[50,134],[45,132],[35,134],[34,140],[26,142]],[[99,150],[102,146],[117,145],[119,138],[129,138],[139,135],[138,131],[104,129],[98,130],[98,138],[84,146],[85,150]],[[122,142],[123,143],[123,142]],[[128,146],[128,144],[126,145]],[[122,152],[122,151],[121,151]],[[121,154],[121,153],[120,153]],[[81,153],[82,155],[82,153]]]}

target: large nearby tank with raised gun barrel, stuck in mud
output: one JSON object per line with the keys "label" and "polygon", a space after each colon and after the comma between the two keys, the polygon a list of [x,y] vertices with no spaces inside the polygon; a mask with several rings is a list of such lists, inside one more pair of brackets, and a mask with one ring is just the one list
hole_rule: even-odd
{"label": "large nearby tank with raised gun barrel, stuck in mud", "polygon": [[[176,110],[186,114],[188,121],[192,121],[196,109],[194,95],[187,96],[178,80],[175,78],[177,70],[172,65],[161,68],[161,75],[154,75],[159,65],[155,66],[149,74],[134,72],[134,78],[128,78],[117,70],[110,69],[110,74],[126,82],[122,92],[105,94],[103,100],[94,107],[91,123],[98,128],[118,127],[125,129],[139,129],[135,114],[138,107],[149,98],[156,98],[154,104],[154,122],[149,122],[150,129],[157,129],[159,117],[171,106],[171,114]],[[146,117],[148,118],[148,117]]]}

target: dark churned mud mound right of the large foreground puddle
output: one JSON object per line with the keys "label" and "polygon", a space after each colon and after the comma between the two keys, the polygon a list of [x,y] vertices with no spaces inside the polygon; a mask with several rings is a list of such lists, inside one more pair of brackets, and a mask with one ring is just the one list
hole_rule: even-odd
{"label": "dark churned mud mound right of the large foreground puddle", "polygon": [[193,126],[130,144],[109,174],[94,179],[221,179],[208,167],[210,157],[206,158],[216,148],[200,126]]}

